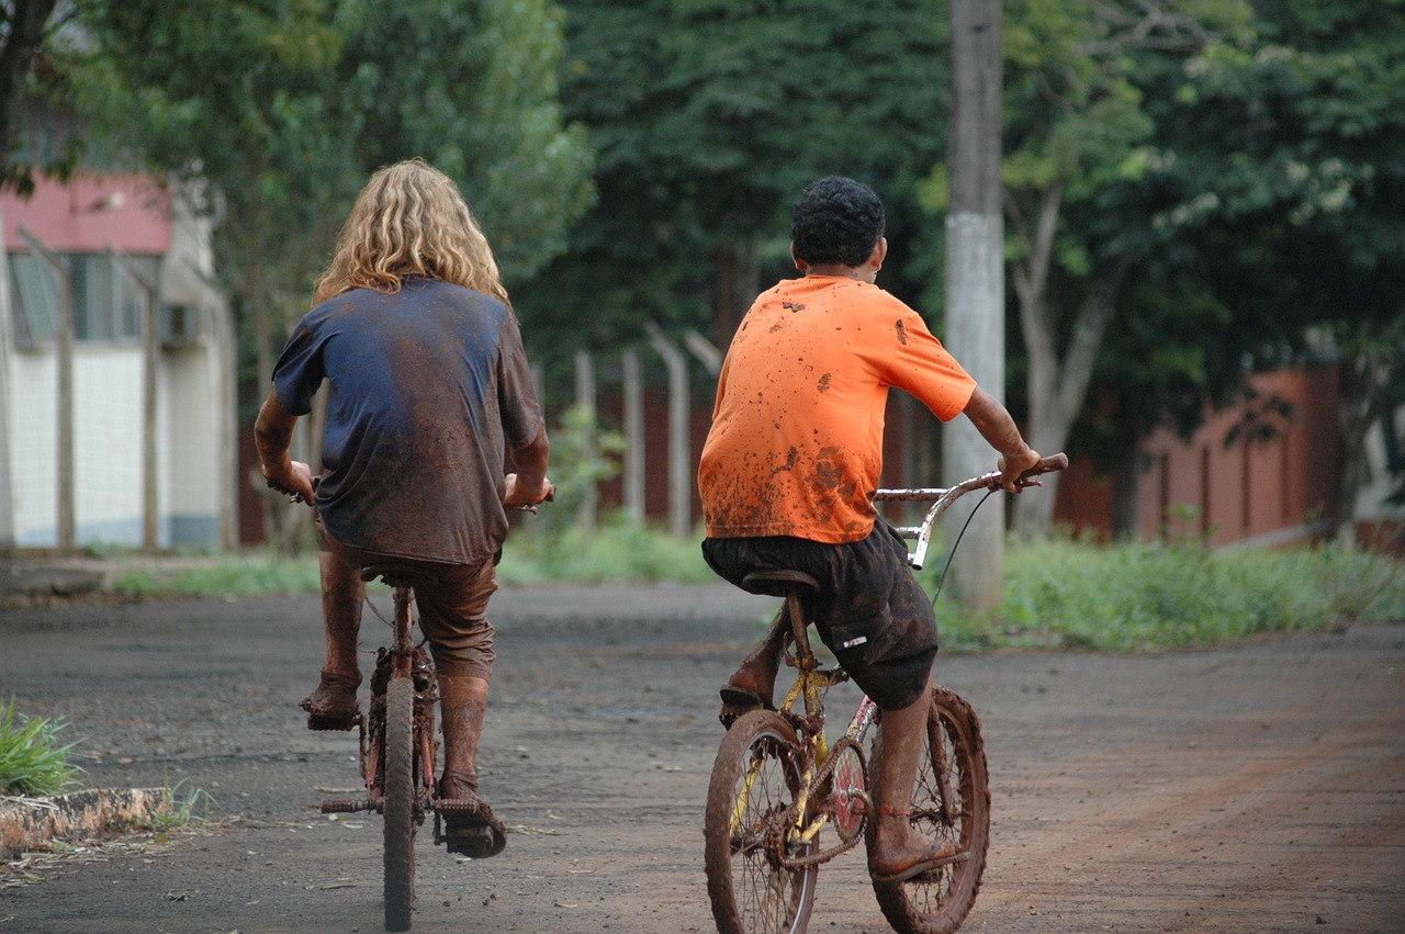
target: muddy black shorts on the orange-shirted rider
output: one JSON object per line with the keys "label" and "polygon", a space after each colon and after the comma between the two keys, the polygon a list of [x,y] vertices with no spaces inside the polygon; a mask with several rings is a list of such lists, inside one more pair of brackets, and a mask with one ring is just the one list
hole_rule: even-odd
{"label": "muddy black shorts on the orange-shirted rider", "polygon": [[858,542],[708,538],[702,556],[738,587],[753,570],[801,570],[819,581],[811,608],[819,638],[885,711],[922,697],[937,655],[937,618],[908,567],[908,542],[882,520]]}

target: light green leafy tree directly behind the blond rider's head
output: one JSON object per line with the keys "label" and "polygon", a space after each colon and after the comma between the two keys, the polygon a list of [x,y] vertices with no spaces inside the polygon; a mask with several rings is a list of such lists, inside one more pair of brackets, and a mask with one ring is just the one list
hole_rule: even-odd
{"label": "light green leafy tree directly behind the blond rider's head", "polygon": [[89,4],[70,103],[216,218],[216,267],[253,344],[249,406],[379,166],[423,156],[450,174],[509,288],[562,249],[589,202],[589,149],[556,100],[548,0]]}

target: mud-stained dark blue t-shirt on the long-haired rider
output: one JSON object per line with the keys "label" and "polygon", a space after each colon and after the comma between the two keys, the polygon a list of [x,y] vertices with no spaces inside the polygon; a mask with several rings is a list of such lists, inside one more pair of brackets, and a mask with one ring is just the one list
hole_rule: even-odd
{"label": "mud-stained dark blue t-shirt on the long-haired rider", "polygon": [[298,323],[273,374],[296,416],[323,379],[327,532],[420,560],[490,558],[507,537],[506,448],[531,444],[542,424],[511,310],[420,277],[392,295],[337,295]]}

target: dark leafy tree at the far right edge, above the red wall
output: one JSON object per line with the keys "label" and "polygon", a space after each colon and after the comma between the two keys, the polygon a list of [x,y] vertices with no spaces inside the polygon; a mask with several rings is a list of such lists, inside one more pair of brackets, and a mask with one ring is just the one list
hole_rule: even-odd
{"label": "dark leafy tree at the far right edge, above the red wall", "polygon": [[1165,265],[1232,309],[1221,337],[1249,367],[1339,362],[1343,530],[1366,431],[1405,371],[1401,7],[1260,4],[1252,41],[1148,84],[1159,150],[1141,208]]}

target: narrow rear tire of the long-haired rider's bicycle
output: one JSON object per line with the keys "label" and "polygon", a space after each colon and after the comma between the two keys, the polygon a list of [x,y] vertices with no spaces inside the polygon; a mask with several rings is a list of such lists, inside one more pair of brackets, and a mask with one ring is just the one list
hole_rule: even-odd
{"label": "narrow rear tire of the long-haired rider's bicycle", "polygon": [[414,685],[385,688],[385,930],[410,930],[414,900]]}

